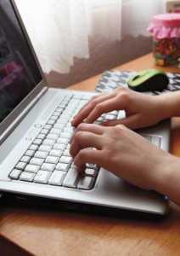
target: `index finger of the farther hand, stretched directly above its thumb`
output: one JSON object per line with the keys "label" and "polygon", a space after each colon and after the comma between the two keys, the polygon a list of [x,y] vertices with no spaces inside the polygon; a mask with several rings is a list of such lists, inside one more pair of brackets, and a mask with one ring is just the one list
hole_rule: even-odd
{"label": "index finger of the farther hand, stretched directly above its thumb", "polygon": [[118,104],[116,98],[111,98],[110,100],[107,100],[105,102],[100,102],[98,105],[96,105],[95,108],[93,108],[93,111],[88,115],[86,123],[92,124],[103,113],[108,113],[115,110],[118,107],[117,105]]}

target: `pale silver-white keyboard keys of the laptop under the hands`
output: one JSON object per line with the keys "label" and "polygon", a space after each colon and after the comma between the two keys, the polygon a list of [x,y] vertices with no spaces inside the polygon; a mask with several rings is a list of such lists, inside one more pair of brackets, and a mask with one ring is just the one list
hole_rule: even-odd
{"label": "pale silver-white keyboard keys of the laptop under the hands", "polygon": [[[83,174],[78,172],[70,156],[70,137],[76,128],[70,125],[73,116],[91,96],[67,95],[59,102],[46,125],[31,143],[20,161],[10,172],[9,178],[21,182],[42,183],[73,189],[93,189],[98,177],[99,167],[87,163]],[[94,123],[104,120],[121,119],[123,112],[104,113]],[[151,143],[160,147],[160,137],[143,135]],[[92,148],[94,150],[94,148]]]}

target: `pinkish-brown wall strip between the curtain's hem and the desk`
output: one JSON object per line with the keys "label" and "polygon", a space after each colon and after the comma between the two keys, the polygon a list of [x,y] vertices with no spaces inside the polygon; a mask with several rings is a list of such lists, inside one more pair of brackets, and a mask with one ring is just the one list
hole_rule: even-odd
{"label": "pinkish-brown wall strip between the curtain's hem and the desk", "polygon": [[[48,84],[54,87],[60,84],[65,88],[148,54],[152,51],[152,38],[143,36],[133,38],[129,36],[121,42],[107,42],[104,38],[97,37],[93,41],[90,38],[89,45],[89,59],[75,59],[75,65],[71,67],[68,74],[55,72],[46,74]],[[136,67],[134,67],[134,70],[136,70]]]}

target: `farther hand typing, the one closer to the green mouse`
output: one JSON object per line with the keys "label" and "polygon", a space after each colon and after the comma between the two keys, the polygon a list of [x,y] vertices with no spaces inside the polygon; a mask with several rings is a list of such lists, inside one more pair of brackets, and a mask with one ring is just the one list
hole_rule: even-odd
{"label": "farther hand typing, the one closer to the green mouse", "polygon": [[121,87],[115,91],[93,96],[76,114],[71,125],[77,126],[86,119],[86,123],[93,123],[103,113],[113,110],[124,110],[125,119],[111,120],[102,123],[104,126],[126,125],[130,129],[138,129],[157,124],[164,117],[160,96],[148,96]]}

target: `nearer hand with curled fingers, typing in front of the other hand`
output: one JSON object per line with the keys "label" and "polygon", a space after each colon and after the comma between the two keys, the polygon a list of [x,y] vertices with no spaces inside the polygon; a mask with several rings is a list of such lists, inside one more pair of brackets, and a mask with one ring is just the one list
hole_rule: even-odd
{"label": "nearer hand with curled fingers, typing in front of the other hand", "polygon": [[172,165],[171,154],[124,125],[79,125],[70,154],[80,172],[85,170],[85,163],[94,163],[142,189],[158,190],[166,177],[165,166]]}

